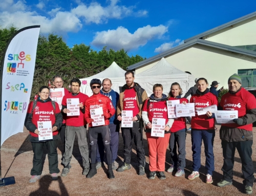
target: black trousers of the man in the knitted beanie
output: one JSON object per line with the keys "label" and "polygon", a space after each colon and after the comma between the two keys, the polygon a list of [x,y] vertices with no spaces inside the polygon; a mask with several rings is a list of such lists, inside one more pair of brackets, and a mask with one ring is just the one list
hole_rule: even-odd
{"label": "black trousers of the man in the knitted beanie", "polygon": [[252,154],[252,140],[242,142],[221,142],[223,148],[224,163],[222,167],[223,180],[232,182],[233,179],[233,166],[234,166],[234,152],[237,148],[239,156],[242,161],[242,172],[244,175],[244,185],[253,186],[254,182],[254,169],[251,159]]}

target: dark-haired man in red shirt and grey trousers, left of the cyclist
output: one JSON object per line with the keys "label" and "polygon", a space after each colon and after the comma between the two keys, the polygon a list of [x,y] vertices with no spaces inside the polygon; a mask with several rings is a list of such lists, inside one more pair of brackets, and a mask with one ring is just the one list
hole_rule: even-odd
{"label": "dark-haired man in red shirt and grey trousers, left of the cyclist", "polygon": [[67,176],[69,172],[69,164],[72,157],[72,151],[74,146],[75,134],[78,138],[78,146],[82,156],[83,172],[82,175],[87,175],[90,169],[89,161],[89,148],[87,142],[87,130],[86,123],[84,122],[84,104],[88,99],[87,95],[79,92],[81,86],[81,81],[78,78],[73,78],[70,81],[71,91],[65,95],[62,99],[62,109],[61,112],[64,114],[70,113],[70,110],[67,109],[67,99],[79,99],[79,116],[67,116],[66,119],[66,133],[65,133],[65,153],[63,154],[62,164],[64,168],[62,170],[61,176]]}

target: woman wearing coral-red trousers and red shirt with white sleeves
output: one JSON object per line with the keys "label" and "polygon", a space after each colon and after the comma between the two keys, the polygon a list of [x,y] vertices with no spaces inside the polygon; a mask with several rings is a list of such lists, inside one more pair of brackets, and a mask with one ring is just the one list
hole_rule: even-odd
{"label": "woman wearing coral-red trousers and red shirt with white sleeves", "polygon": [[[166,148],[170,138],[169,129],[174,122],[173,119],[167,117],[167,96],[163,94],[163,86],[155,84],[153,86],[153,93],[150,99],[147,99],[142,108],[142,119],[146,126],[145,132],[148,143],[148,154],[150,158],[150,174],[148,179],[155,179],[157,175],[159,179],[166,179],[164,175],[165,168],[165,154]],[[148,103],[149,102],[149,103]],[[152,136],[152,119],[165,119],[164,137]],[[154,123],[154,122],[153,122]]]}

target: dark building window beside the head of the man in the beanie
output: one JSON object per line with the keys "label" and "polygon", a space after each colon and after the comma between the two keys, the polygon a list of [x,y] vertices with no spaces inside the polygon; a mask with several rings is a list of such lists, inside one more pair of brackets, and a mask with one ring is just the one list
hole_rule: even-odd
{"label": "dark building window beside the head of the man in the beanie", "polygon": [[238,70],[243,87],[256,87],[256,69]]}

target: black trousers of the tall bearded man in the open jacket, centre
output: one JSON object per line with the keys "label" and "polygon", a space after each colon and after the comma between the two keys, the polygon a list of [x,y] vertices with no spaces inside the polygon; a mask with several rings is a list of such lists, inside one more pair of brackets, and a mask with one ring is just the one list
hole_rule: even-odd
{"label": "black trousers of the tall bearded man in the open jacket, centre", "polygon": [[124,162],[131,163],[132,156],[132,141],[136,146],[136,153],[139,165],[145,167],[145,153],[143,149],[143,137],[142,129],[140,128],[140,122],[134,122],[132,128],[121,128],[123,137],[123,156]]}

